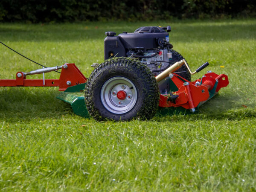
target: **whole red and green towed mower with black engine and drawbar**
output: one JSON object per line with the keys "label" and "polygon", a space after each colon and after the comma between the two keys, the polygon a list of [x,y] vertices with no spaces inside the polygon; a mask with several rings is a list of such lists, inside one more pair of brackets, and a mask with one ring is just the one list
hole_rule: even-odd
{"label": "whole red and green towed mower with black engine and drawbar", "polygon": [[[191,81],[195,72],[169,43],[171,27],[146,26],[133,33],[106,32],[105,61],[85,78],[75,64],[47,67],[0,86],[58,86],[58,99],[71,104],[74,113],[96,120],[150,119],[156,113],[195,113],[198,107],[228,85],[226,75],[211,71]],[[26,76],[61,69],[59,79],[26,79]],[[84,94],[85,90],[85,94]]]}

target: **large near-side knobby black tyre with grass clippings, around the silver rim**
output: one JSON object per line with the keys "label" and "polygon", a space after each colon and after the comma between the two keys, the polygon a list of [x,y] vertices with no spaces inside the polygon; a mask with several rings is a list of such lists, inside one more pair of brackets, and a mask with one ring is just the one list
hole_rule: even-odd
{"label": "large near-side knobby black tyre with grass clippings, around the silver rim", "polygon": [[[137,101],[131,110],[116,114],[107,110],[101,100],[101,90],[109,79],[114,77],[126,78],[137,90]],[[111,58],[100,64],[87,80],[85,88],[85,103],[87,110],[98,121],[113,119],[141,120],[151,119],[157,112],[159,103],[159,88],[154,75],[149,68],[137,59]]]}

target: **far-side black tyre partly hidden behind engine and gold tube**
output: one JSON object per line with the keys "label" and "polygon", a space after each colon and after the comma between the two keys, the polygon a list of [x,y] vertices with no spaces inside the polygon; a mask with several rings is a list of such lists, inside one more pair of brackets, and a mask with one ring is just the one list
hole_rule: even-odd
{"label": "far-side black tyre partly hidden behind engine and gold tube", "polygon": [[[180,53],[178,53],[177,51],[171,49],[171,52],[172,52],[172,59],[170,60],[171,65],[183,59],[183,56],[180,55]],[[180,69],[178,69],[175,73],[183,77],[184,79],[191,81],[191,74],[189,73],[189,70],[186,68],[185,65],[182,65]]]}

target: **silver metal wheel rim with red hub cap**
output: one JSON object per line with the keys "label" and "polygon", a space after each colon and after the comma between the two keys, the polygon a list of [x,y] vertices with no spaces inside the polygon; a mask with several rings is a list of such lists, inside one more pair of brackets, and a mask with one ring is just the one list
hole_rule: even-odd
{"label": "silver metal wheel rim with red hub cap", "polygon": [[113,77],[102,86],[100,96],[102,104],[108,111],[123,114],[136,104],[137,89],[129,79]]}

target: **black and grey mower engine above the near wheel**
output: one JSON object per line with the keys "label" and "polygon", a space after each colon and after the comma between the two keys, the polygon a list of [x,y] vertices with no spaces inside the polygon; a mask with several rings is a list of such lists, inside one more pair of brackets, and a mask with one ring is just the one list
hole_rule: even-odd
{"label": "black and grey mower engine above the near wheel", "polygon": [[[113,57],[139,58],[140,62],[157,76],[175,62],[183,59],[169,43],[168,32],[170,31],[170,26],[145,26],[136,29],[134,33],[123,32],[117,36],[115,32],[106,32],[105,60]],[[191,80],[185,66],[175,73]]]}

